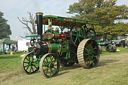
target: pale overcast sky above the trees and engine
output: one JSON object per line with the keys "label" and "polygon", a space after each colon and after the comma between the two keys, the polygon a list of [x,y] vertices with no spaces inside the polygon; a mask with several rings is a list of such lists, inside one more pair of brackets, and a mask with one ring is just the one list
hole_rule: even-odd
{"label": "pale overcast sky above the trees and engine", "polygon": [[[24,29],[17,17],[28,17],[27,12],[31,12],[34,16],[35,13],[41,11],[44,15],[57,15],[57,16],[71,16],[67,14],[70,4],[78,2],[78,0],[0,0],[0,11],[4,13],[4,18],[8,20],[11,27],[13,40],[22,39],[28,31]],[[117,5],[127,5],[128,0],[118,0]]]}

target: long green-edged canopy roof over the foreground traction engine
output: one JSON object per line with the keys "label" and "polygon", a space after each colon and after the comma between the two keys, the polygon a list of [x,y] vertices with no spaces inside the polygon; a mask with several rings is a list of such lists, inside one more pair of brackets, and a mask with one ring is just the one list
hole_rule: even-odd
{"label": "long green-edged canopy roof over the foreground traction engine", "polygon": [[52,25],[55,25],[55,26],[80,27],[85,24],[102,25],[102,23],[99,23],[99,22],[85,21],[80,19],[53,16],[53,15],[43,16],[42,24],[48,25],[48,19],[51,19]]}

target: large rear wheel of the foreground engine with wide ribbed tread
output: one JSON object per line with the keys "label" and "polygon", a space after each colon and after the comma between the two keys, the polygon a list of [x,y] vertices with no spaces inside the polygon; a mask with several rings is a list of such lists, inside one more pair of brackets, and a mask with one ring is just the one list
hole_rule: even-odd
{"label": "large rear wheel of the foreground engine with wide ribbed tread", "polygon": [[84,39],[77,49],[78,63],[84,68],[92,68],[97,65],[100,53],[95,40]]}

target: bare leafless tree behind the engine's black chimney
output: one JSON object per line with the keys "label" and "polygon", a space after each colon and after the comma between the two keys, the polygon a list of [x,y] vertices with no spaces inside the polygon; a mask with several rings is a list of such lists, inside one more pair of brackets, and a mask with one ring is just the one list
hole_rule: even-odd
{"label": "bare leafless tree behind the engine's black chimney", "polygon": [[[25,28],[28,29],[30,34],[36,34],[35,17],[33,17],[33,15],[30,12],[28,12],[28,14],[29,14],[29,19],[27,19],[26,17],[22,17],[22,20],[19,17],[17,17],[17,18],[22,24],[24,24],[26,26]],[[30,25],[31,25],[31,27],[30,27]]]}

